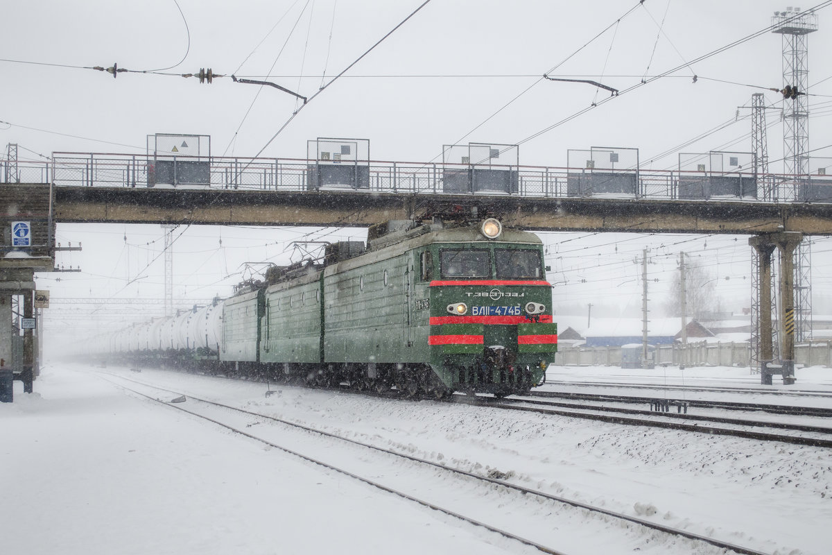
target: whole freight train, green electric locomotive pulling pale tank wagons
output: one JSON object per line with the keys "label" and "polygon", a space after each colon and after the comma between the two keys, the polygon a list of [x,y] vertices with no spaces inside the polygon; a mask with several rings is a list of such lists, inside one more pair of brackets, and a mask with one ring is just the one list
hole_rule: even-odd
{"label": "whole freight train, green electric locomotive pulling pale tank wagons", "polygon": [[407,397],[524,394],[557,351],[545,275],[537,235],[493,217],[389,221],[107,343],[146,364]]}

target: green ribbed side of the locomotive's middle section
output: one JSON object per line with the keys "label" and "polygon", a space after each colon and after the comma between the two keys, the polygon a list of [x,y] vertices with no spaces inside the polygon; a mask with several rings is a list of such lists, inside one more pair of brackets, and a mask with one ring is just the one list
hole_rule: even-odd
{"label": "green ribbed side of the locomotive's middle section", "polygon": [[323,362],[321,270],[269,285],[260,326],[260,362]]}

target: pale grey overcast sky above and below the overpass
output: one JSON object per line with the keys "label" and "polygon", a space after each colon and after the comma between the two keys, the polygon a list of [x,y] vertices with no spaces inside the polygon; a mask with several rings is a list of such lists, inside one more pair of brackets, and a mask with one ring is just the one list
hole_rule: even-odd
{"label": "pale grey overcast sky above and below the overpass", "polygon": [[[740,107],[750,106],[753,93],[765,92],[766,102],[780,107],[780,95],[766,90],[785,84],[780,35],[770,32],[651,81],[769,26],[775,10],[789,7],[770,0],[433,0],[314,97],[270,144],[300,106],[274,88],[230,77],[210,85],[148,73],[114,79],[77,68],[116,62],[140,71],[176,66],[165,72],[178,74],[210,67],[225,76],[268,76],[312,97],[420,3],[7,2],[0,34],[3,154],[7,143],[17,143],[21,160],[57,151],[144,152],[148,135],[185,133],[209,135],[214,156],[255,156],[265,148],[262,156],[303,158],[306,141],[336,136],[369,139],[375,160],[441,160],[443,145],[477,141],[520,144],[524,165],[566,166],[569,149],[621,146],[638,148],[643,168],[675,169],[679,151],[750,151],[749,111]],[[820,149],[814,154],[832,158],[832,148],[822,148],[832,145],[829,13],[832,8],[818,13],[820,30],[809,38],[809,128],[810,148]],[[530,139],[609,97],[586,84],[542,81],[544,72],[622,91],[647,83]],[[710,132],[738,114],[738,121]],[[783,150],[779,117],[770,111],[774,171]],[[322,233],[193,226],[175,245],[176,295],[229,295],[241,262],[285,262],[295,238],[364,236],[362,230]],[[38,285],[52,295],[161,297],[158,226],[59,225],[58,235],[64,244],[83,242],[81,253],[61,255],[60,262],[84,272],[42,275]],[[727,305],[749,304],[740,302],[749,291],[746,237],[549,234],[545,240],[550,280],[563,282],[573,304],[640,305],[640,267],[632,260],[645,246],[656,260],[660,282],[651,286],[657,297],[666,293],[679,250],[690,250],[706,260]],[[814,247],[818,291],[832,285],[822,255],[829,245],[820,240]]]}

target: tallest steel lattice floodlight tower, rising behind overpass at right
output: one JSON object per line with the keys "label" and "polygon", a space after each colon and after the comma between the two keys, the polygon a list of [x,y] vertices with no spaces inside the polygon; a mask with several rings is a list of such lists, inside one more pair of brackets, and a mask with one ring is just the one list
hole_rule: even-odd
{"label": "tallest steel lattice floodlight tower, rising behind overpass at right", "polygon": [[[802,201],[809,176],[809,47],[807,36],[818,30],[815,12],[800,7],[775,12],[772,32],[783,37],[783,169],[786,176],[785,199]],[[790,87],[791,94],[787,95]],[[811,247],[807,241],[795,250],[795,339],[812,333]]]}

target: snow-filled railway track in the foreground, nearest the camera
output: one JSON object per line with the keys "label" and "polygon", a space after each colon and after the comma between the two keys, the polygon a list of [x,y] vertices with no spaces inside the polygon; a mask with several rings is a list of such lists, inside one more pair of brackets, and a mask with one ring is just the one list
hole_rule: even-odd
{"label": "snow-filled railway track in the foreground, nearest the camera", "polygon": [[[319,454],[320,453],[329,453],[330,449],[326,448],[326,447],[324,447],[322,449],[319,448],[318,453],[314,453],[315,449],[310,446],[311,442],[309,441],[309,435],[314,434],[314,435],[317,435],[320,438],[324,438],[326,440],[335,440],[335,441],[338,441],[338,442],[343,442],[344,444],[349,445],[349,447],[351,447],[351,448],[356,447],[356,448],[361,449],[365,453],[364,456],[355,457],[355,459],[364,459],[364,458],[366,458],[366,452],[368,452],[368,451],[372,451],[374,453],[377,453],[380,456],[385,457],[385,458],[392,458],[391,459],[392,466],[393,466],[393,468],[397,469],[397,472],[395,472],[396,474],[399,474],[398,470],[400,470],[402,463],[407,463],[407,464],[411,465],[411,469],[414,470],[414,473],[415,473],[415,470],[417,468],[428,469],[429,473],[433,473],[434,475],[435,475],[435,473],[440,472],[440,473],[443,474],[443,477],[441,477],[440,480],[443,480],[444,477],[447,477],[447,475],[450,474],[450,475],[456,476],[457,478],[463,478],[464,480],[467,480],[467,481],[474,481],[476,483],[480,483],[485,488],[488,488],[488,491],[493,491],[494,488],[499,488],[499,490],[501,492],[503,492],[507,495],[516,496],[515,499],[518,502],[528,503],[529,498],[533,496],[534,498],[537,498],[538,503],[552,503],[553,506],[557,506],[557,508],[560,508],[562,510],[567,509],[567,508],[569,510],[572,510],[572,511],[577,510],[581,513],[581,514],[577,515],[577,518],[581,523],[585,523],[585,521],[586,521],[586,516],[585,515],[588,512],[588,513],[592,513],[592,514],[596,515],[597,517],[600,517],[600,518],[604,519],[607,523],[609,522],[609,519],[613,519],[613,520],[618,521],[618,522],[631,523],[631,524],[635,524],[637,527],[647,528],[647,529],[650,529],[650,530],[660,532],[662,534],[666,534],[667,541],[670,542],[670,543],[676,543],[679,538],[686,538],[687,541],[691,542],[691,548],[692,548],[691,551],[693,551],[695,553],[703,553],[703,552],[701,552],[701,548],[706,548],[706,546],[711,546],[711,548],[716,548],[717,550],[727,550],[727,552],[730,552],[730,553],[743,553],[743,554],[746,554],[746,555],[763,555],[763,553],[764,553],[764,552],[760,552],[760,551],[757,551],[757,550],[752,549],[752,548],[745,548],[745,547],[742,547],[740,545],[736,545],[734,543],[728,543],[728,542],[722,541],[722,540],[717,539],[717,538],[709,538],[707,536],[687,532],[686,530],[681,530],[679,528],[672,528],[672,527],[662,525],[660,523],[654,523],[654,522],[651,522],[650,520],[647,520],[647,519],[644,519],[644,518],[638,518],[638,517],[634,517],[634,516],[627,515],[627,514],[624,514],[624,513],[617,513],[617,512],[608,510],[606,508],[600,508],[600,507],[592,506],[590,504],[582,503],[582,502],[579,502],[579,501],[576,501],[576,500],[573,500],[573,499],[562,498],[562,497],[552,495],[552,494],[549,494],[549,493],[540,492],[540,491],[537,491],[537,490],[534,490],[534,489],[531,489],[531,488],[524,488],[524,487],[519,486],[517,484],[508,482],[506,479],[483,476],[483,475],[478,474],[478,473],[472,473],[472,472],[460,470],[458,468],[448,467],[448,466],[446,466],[442,463],[436,463],[436,462],[431,461],[431,460],[414,457],[412,455],[408,455],[408,454],[404,454],[404,453],[398,453],[396,451],[392,451],[392,450],[389,450],[389,449],[386,449],[386,448],[381,448],[381,447],[378,447],[378,446],[373,445],[373,444],[366,444],[366,443],[361,442],[357,439],[350,439],[350,438],[340,436],[338,434],[331,434],[329,432],[325,432],[325,431],[322,431],[322,430],[313,429],[313,428],[310,428],[308,426],[305,426],[304,424],[290,422],[290,421],[285,420],[285,419],[276,418],[276,417],[273,417],[273,416],[269,416],[267,414],[261,414],[261,413],[258,413],[258,412],[255,412],[255,411],[250,411],[250,410],[247,410],[247,409],[240,409],[238,407],[234,407],[234,406],[231,406],[231,405],[228,405],[228,404],[218,403],[218,402],[215,402],[215,401],[210,401],[208,399],[201,399],[201,398],[192,396],[190,394],[187,394],[185,392],[175,391],[175,390],[172,390],[172,389],[166,389],[166,388],[156,386],[156,385],[153,385],[153,384],[146,384],[146,383],[141,382],[139,380],[127,378],[125,376],[121,376],[121,375],[118,375],[118,374],[112,374],[112,373],[109,373],[109,372],[98,372],[97,374],[99,374],[102,377],[102,379],[106,379],[107,381],[111,382],[112,384],[116,384],[116,386],[121,387],[122,389],[126,389],[128,391],[131,391],[133,394],[140,395],[141,397],[143,397],[145,399],[150,399],[151,401],[153,401],[155,403],[164,404],[168,407],[181,410],[181,411],[186,412],[188,414],[192,414],[197,418],[205,419],[206,421],[209,421],[210,423],[216,424],[216,425],[218,425],[218,426],[220,426],[224,429],[228,429],[228,430],[234,432],[235,434],[240,434],[242,436],[245,436],[246,438],[249,438],[249,439],[255,440],[257,442],[269,445],[271,448],[280,449],[280,450],[284,451],[285,453],[290,453],[291,455],[294,455],[294,456],[299,457],[299,458],[303,458],[304,460],[309,461],[311,463],[319,464],[320,466],[323,466],[324,468],[329,468],[329,469],[331,469],[335,472],[343,473],[344,475],[349,476],[350,478],[354,478],[354,479],[359,480],[363,483],[367,483],[367,484],[369,484],[369,485],[371,485],[375,488],[379,488],[379,489],[383,490],[384,492],[393,493],[395,495],[398,495],[401,498],[409,500],[410,502],[418,503],[418,504],[420,504],[424,507],[432,508],[433,510],[445,513],[445,514],[447,514],[447,515],[449,515],[453,518],[458,518],[460,520],[463,520],[464,522],[472,523],[472,524],[474,524],[478,527],[486,528],[486,529],[488,529],[489,531],[491,531],[493,533],[500,534],[504,538],[508,538],[508,539],[513,540],[515,542],[522,543],[526,546],[536,548],[538,551],[540,551],[542,553],[552,553],[552,555],[565,555],[565,553],[562,550],[560,550],[558,548],[552,548],[552,547],[549,547],[549,546],[545,545],[543,542],[548,541],[547,539],[543,539],[543,540],[530,539],[530,538],[527,537],[527,535],[528,535],[527,533],[522,533],[523,535],[521,535],[521,533],[514,533],[512,531],[509,531],[508,529],[506,529],[506,528],[509,528],[509,527],[506,526],[506,523],[502,523],[500,526],[496,526],[492,523],[486,522],[487,520],[493,520],[493,518],[495,518],[495,515],[497,515],[498,518],[502,518],[503,520],[506,520],[506,519],[510,520],[509,517],[511,516],[512,512],[504,510],[503,503],[505,503],[505,501],[506,501],[504,498],[501,498],[498,501],[498,503],[500,503],[500,509],[499,510],[496,510],[496,509],[495,510],[490,510],[490,511],[488,511],[488,513],[484,513],[483,515],[479,515],[479,516],[470,515],[470,514],[466,515],[466,514],[461,513],[458,509],[455,509],[455,508],[452,508],[452,507],[448,506],[449,504],[452,504],[452,503],[448,503],[448,501],[449,501],[448,498],[445,498],[445,499],[439,500],[439,501],[437,501],[435,499],[428,499],[428,498],[425,498],[425,493],[415,494],[413,492],[404,491],[402,488],[399,488],[395,485],[391,485],[390,483],[384,483],[384,480],[379,479],[378,476],[377,476],[379,474],[379,469],[377,467],[364,468],[364,471],[361,472],[361,471],[356,471],[352,468],[344,468],[344,464],[341,463],[341,462],[339,462],[339,463],[330,463],[330,462],[325,461],[323,458],[321,458],[319,456]],[[115,378],[115,379],[113,379],[113,378]],[[128,385],[125,384],[125,382],[130,383],[130,384],[134,384],[134,385],[133,386],[128,386]],[[135,387],[136,384],[139,385],[140,388],[150,388],[152,391],[156,392],[156,395],[158,395],[158,392],[163,392],[165,394],[174,395],[177,398],[187,399],[190,402],[189,403],[172,404],[171,401],[164,401],[164,400],[159,399],[156,395],[152,394],[152,391],[151,391],[151,394],[149,394],[147,391],[143,392],[139,389],[136,389],[136,387]],[[178,401],[180,399],[176,399],[176,400]],[[258,419],[258,421],[255,422],[255,423],[251,423],[250,422],[251,417],[254,417],[255,419]],[[285,429],[296,430],[299,433],[304,434],[305,439],[300,440],[298,443],[303,446],[305,452],[301,452],[298,448],[296,448],[294,446],[290,447],[290,446],[284,444],[283,441],[281,441],[281,443],[277,443],[273,439],[268,439],[268,434],[263,433],[260,430],[260,427],[255,428],[256,424],[260,424],[260,422],[268,422],[270,424],[280,425],[281,427],[284,427]],[[243,429],[244,427],[245,427],[245,429]],[[256,429],[256,431],[253,431],[252,429]],[[329,446],[331,447],[331,443],[329,444]],[[337,456],[336,456],[336,458],[337,458]],[[343,458],[341,458],[341,460],[343,460]],[[372,476],[372,477],[370,477],[370,476]],[[388,477],[385,475],[384,478],[388,478]],[[411,478],[413,478],[413,477],[411,476]],[[417,482],[418,482],[418,480],[417,480]],[[443,483],[444,483],[444,481],[443,481]],[[468,484],[465,484],[465,487],[466,487],[466,489],[468,489],[469,488]],[[440,489],[442,489],[442,490],[447,489],[447,488],[448,488],[447,484],[440,487]],[[431,488],[427,485],[423,485],[423,483],[421,483],[421,482],[418,482],[418,491],[419,492],[428,492],[428,493],[433,493],[435,495],[436,491],[434,491],[434,489],[435,488]],[[440,496],[440,498],[441,498],[441,496]],[[453,498],[453,495],[451,496],[451,498]],[[482,505],[485,505],[485,504],[486,503],[482,503]],[[484,509],[488,510],[488,507],[484,507]],[[535,514],[542,514],[542,513],[546,513],[546,511],[536,510],[534,513]],[[551,513],[547,515],[548,518],[551,518],[551,516],[552,516]],[[545,517],[542,517],[542,518],[545,521]],[[534,531],[534,530],[541,530],[542,529],[542,532],[544,532],[544,533],[542,533],[541,535],[544,535],[544,536],[546,535],[546,533],[545,533],[546,529],[551,528],[551,523],[548,523],[548,525],[545,522],[542,523],[541,526],[543,528],[538,528],[533,523],[528,523],[527,522],[527,515],[526,515],[526,517],[522,517],[522,521],[523,521],[522,523],[510,523],[510,524],[513,524],[518,529],[524,529],[524,530],[531,529],[532,531]],[[607,528],[617,528],[617,529],[623,528],[625,530],[631,529],[631,528],[627,528],[627,527],[608,527],[608,526],[605,525],[605,529],[607,529]],[[655,536],[651,537],[650,541],[651,541],[651,543],[655,542],[656,537]],[[584,550],[587,549],[586,546],[582,546],[582,548]],[[589,549],[591,550],[592,548],[589,548]],[[587,553],[592,553],[592,551],[587,552]],[[715,551],[713,553],[726,553],[726,552]]]}

